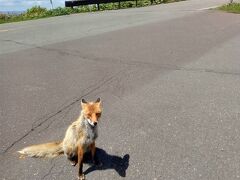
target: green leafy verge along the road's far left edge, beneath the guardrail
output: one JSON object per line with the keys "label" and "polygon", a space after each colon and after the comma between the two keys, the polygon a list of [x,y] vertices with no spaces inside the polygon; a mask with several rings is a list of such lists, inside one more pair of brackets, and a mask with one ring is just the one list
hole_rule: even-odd
{"label": "green leafy verge along the road's far left edge, beneath the guardrail", "polygon": [[[183,0],[154,0],[154,3],[162,4],[162,3],[172,3],[172,2],[178,2],[178,1],[183,1]],[[138,0],[138,7],[149,6],[149,5],[151,5],[150,0]],[[131,8],[131,7],[136,7],[134,1],[121,3],[121,8]],[[101,10],[118,9],[118,3],[100,4],[100,9]],[[76,13],[94,12],[94,11],[97,11],[97,7],[95,5],[81,6],[76,8],[58,7],[56,9],[51,9],[51,10],[47,10],[46,8],[42,8],[40,6],[35,6],[35,7],[32,7],[31,9],[28,9],[25,13],[22,13],[19,15],[0,14],[0,24],[47,18],[47,17],[53,17],[53,16],[76,14]]]}

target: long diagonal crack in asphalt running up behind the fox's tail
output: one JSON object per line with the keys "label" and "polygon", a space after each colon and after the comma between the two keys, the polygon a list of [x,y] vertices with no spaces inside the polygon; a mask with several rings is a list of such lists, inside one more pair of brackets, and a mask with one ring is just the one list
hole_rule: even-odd
{"label": "long diagonal crack in asphalt running up behind the fox's tail", "polygon": [[[73,106],[75,103],[79,102],[82,98],[84,98],[85,96],[93,93],[94,91],[100,89],[103,85],[107,85],[109,83],[112,82],[112,80],[118,76],[119,74],[122,73],[123,70],[118,71],[117,73],[115,73],[114,75],[112,75],[111,77],[103,80],[102,82],[100,82],[97,86],[95,86],[93,89],[89,90],[88,92],[86,92],[84,95],[79,96],[77,99],[75,99],[74,101],[72,101],[71,103],[63,106],[61,109],[57,110],[54,113],[51,113],[48,117],[46,117],[43,121],[41,121],[40,123],[38,123],[37,125],[33,126],[28,132],[26,132],[23,136],[21,136],[20,138],[18,138],[17,140],[15,140],[12,144],[10,144],[7,148],[5,148],[5,150],[3,150],[0,154],[5,154],[7,153],[13,146],[15,146],[18,142],[20,142],[21,140],[23,140],[25,137],[27,137],[31,132],[33,132],[34,130],[36,130],[37,128],[39,128],[40,126],[42,126],[45,122],[49,121],[50,119],[52,119],[53,117],[55,117],[56,115],[58,115],[59,113],[61,113],[62,111],[66,110],[67,108]],[[44,116],[45,117],[45,116]],[[39,119],[43,119],[43,118],[39,118]],[[39,121],[39,119],[37,121]]]}

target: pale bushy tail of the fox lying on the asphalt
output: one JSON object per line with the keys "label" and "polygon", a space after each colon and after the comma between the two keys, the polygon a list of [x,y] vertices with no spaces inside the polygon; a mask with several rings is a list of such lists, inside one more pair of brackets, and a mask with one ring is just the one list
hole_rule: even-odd
{"label": "pale bushy tail of the fox lying on the asphalt", "polygon": [[21,157],[54,158],[64,153],[62,142],[32,145],[18,151]]}

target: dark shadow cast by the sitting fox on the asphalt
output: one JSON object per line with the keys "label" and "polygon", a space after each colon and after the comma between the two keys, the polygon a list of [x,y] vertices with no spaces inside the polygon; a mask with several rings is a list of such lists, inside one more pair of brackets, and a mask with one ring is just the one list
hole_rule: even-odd
{"label": "dark shadow cast by the sitting fox on the asphalt", "polygon": [[[102,166],[90,166],[84,172],[84,174],[88,174],[96,170],[114,169],[119,174],[119,176],[126,177],[126,170],[129,166],[129,154],[125,154],[123,157],[119,157],[115,155],[110,155],[103,149],[96,148],[96,155],[98,157],[98,160],[102,163]],[[90,153],[86,153],[86,155],[84,156],[84,163],[91,164]]]}

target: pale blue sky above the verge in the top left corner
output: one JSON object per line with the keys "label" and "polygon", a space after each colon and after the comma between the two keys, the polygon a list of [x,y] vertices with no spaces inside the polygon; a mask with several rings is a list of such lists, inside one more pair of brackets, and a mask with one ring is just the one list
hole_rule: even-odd
{"label": "pale blue sky above the verge in the top left corner", "polygon": [[[65,0],[52,0],[53,6],[64,6]],[[0,0],[0,11],[24,11],[32,6],[51,8],[50,0]]]}

